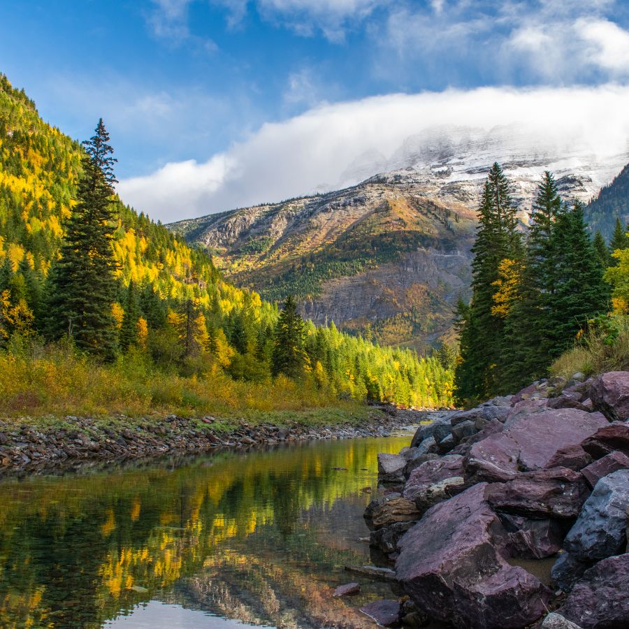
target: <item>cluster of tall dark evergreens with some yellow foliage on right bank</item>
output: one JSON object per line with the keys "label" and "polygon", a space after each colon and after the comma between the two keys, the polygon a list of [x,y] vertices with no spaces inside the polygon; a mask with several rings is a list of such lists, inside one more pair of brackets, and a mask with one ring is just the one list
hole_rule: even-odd
{"label": "cluster of tall dark evergreens with some yellow foliage on right bank", "polygon": [[[491,168],[472,250],[472,301],[458,304],[459,403],[512,393],[548,375],[575,344],[579,368],[595,372],[595,361],[609,367],[610,359],[611,368],[626,368],[614,348],[626,343],[628,328],[628,228],[616,220],[608,245],[599,231],[591,238],[584,210],[563,200],[544,173],[524,231],[509,181],[499,164]],[[595,356],[594,347],[612,355]]]}

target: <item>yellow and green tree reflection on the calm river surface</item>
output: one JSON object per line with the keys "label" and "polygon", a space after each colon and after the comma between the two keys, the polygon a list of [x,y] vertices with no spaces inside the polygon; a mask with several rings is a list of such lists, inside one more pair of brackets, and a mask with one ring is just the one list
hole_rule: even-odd
{"label": "yellow and green tree reflection on the calm river surface", "polygon": [[[375,470],[377,452],[387,446],[396,451],[400,440],[2,482],[0,626],[96,628],[234,551],[275,571],[290,565],[292,581],[288,572],[277,579],[259,573],[277,596],[289,582],[312,588],[317,574],[327,583],[335,565],[356,561],[356,549],[352,560],[339,535],[327,534],[331,514],[351,510],[343,496],[352,496],[360,512],[368,497],[359,491],[373,481],[361,468]],[[334,519],[342,531],[356,517]],[[245,581],[253,576],[243,573]],[[229,588],[238,591],[236,581]]]}

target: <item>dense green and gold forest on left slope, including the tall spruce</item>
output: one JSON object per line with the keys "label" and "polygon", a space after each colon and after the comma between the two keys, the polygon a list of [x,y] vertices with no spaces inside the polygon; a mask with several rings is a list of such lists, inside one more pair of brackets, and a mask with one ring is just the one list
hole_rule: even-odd
{"label": "dense green and gold forest on left slope, including the tall spruce", "polygon": [[[316,328],[290,298],[280,314],[225,282],[208,254],[125,206],[109,142],[102,121],[87,142],[71,140],[0,75],[0,361],[13,392],[3,410],[39,408],[35,383],[55,386],[42,366],[52,381],[70,364],[87,379],[125,374],[131,389],[136,376],[172,377],[184,407],[182,379],[195,389],[220,382],[228,393],[250,386],[253,396],[277,385],[280,397],[451,403],[449,354],[419,359],[333,324]],[[131,393],[154,396],[140,389]]]}

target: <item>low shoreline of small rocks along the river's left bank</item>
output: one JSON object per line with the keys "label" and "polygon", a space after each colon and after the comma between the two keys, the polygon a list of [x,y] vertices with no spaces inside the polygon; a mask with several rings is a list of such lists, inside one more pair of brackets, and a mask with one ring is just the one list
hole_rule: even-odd
{"label": "low shoreline of small rocks along the river's left bank", "polygon": [[[0,477],[20,472],[55,470],[93,461],[124,461],[170,454],[200,454],[220,449],[246,449],[290,442],[359,437],[388,437],[409,426],[415,412],[374,407],[361,426],[307,426],[295,423],[250,425],[224,432],[213,428],[214,417],[116,418],[68,416],[52,426],[0,419]],[[59,425],[61,424],[61,425]]]}

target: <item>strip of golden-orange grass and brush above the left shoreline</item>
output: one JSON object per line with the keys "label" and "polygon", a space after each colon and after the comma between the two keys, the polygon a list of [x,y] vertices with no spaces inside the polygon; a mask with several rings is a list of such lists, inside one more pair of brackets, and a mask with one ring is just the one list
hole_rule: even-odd
{"label": "strip of golden-orange grass and brush above the left shoreline", "polygon": [[0,354],[0,417],[29,417],[45,426],[67,415],[128,421],[124,418],[159,419],[171,413],[216,417],[212,425],[218,430],[243,421],[317,426],[368,417],[358,402],[283,377],[235,381],[218,368],[182,377],[155,368],[142,354],[100,365],[59,347]]}

